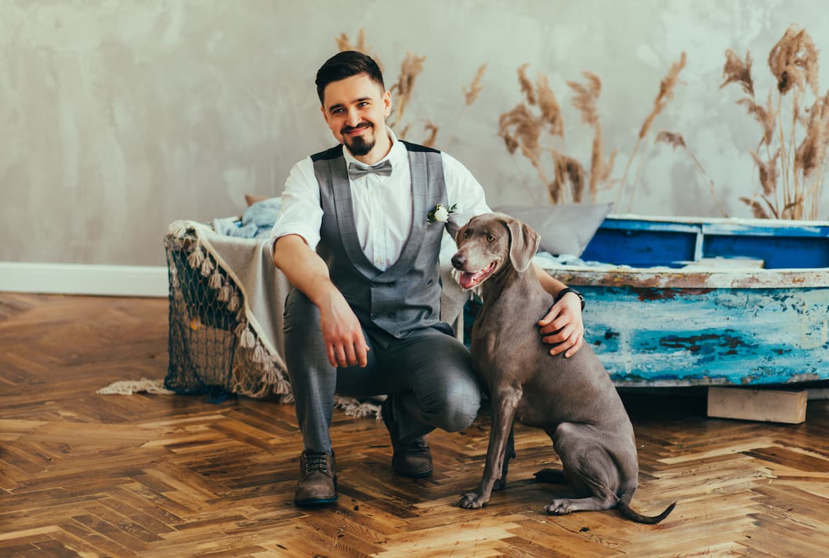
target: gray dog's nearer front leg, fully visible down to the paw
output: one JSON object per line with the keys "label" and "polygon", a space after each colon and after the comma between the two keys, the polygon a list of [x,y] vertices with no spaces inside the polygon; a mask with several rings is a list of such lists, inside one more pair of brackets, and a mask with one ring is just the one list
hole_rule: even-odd
{"label": "gray dog's nearer front leg, fully visible down to the paw", "polygon": [[487,463],[483,468],[483,477],[478,492],[464,494],[459,507],[477,509],[489,502],[492,486],[501,477],[504,457],[507,453],[507,439],[515,418],[518,401],[521,400],[521,390],[518,388],[502,388],[492,394],[492,430],[489,432],[489,448],[487,448]]}

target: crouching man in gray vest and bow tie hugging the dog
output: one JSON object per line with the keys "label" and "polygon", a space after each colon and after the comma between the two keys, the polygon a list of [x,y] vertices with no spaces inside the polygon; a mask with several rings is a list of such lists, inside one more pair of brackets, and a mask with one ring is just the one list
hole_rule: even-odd
{"label": "crouching man in gray vest and bow tie hugging the dog", "polygon": [[[293,284],[285,302],[285,359],[303,433],[295,502],[337,500],[328,429],[334,391],[385,394],[392,468],[432,473],[424,436],[472,424],[481,394],[468,350],[440,322],[439,250],[490,211],[472,174],[445,153],[405,143],[385,126],[391,96],[371,57],[341,52],[317,74],[322,118],[338,144],[297,163],[273,231],[274,264]],[[436,220],[438,204],[453,208]],[[445,217],[444,211],[437,211]],[[565,285],[540,268],[545,289]],[[539,322],[551,354],[581,347],[576,294]],[[560,331],[559,331],[560,330]]]}

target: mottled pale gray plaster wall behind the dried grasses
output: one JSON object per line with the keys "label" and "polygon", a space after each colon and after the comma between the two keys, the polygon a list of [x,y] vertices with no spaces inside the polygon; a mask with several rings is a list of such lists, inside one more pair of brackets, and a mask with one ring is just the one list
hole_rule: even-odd
{"label": "mottled pale gray plaster wall behind the dried grasses", "polygon": [[[239,214],[246,192],[278,195],[293,163],[333,143],[313,77],[334,38],[361,27],[389,83],[406,51],[427,57],[407,113],[439,124],[437,147],[475,173],[492,205],[545,202],[536,172],[496,136],[498,115],[521,99],[517,66],[549,76],[567,151],[584,163],[592,134],[565,81],[581,70],[602,78],[619,176],[659,80],[686,51],[654,131],[683,134],[729,213],[749,216],[737,198],[756,189],[759,132],[734,106],[738,88],[718,89],[725,49],[752,51],[764,99],[766,56],[790,23],[829,46],[822,4],[0,0],[0,260],[161,265],[170,221]],[[464,107],[461,89],[483,62],[484,90]],[[718,215],[684,153],[657,145],[643,157],[634,211]]]}

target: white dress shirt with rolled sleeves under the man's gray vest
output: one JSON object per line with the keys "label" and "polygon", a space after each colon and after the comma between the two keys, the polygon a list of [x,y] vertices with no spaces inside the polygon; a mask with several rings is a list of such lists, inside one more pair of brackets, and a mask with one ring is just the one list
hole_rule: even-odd
{"label": "white dress shirt with rolled sleeves under the man's gray vest", "polygon": [[[391,139],[389,153],[377,163],[386,159],[391,163],[391,175],[366,174],[355,179],[349,178],[351,198],[354,204],[354,221],[360,245],[366,257],[377,269],[388,269],[400,258],[405,241],[409,238],[413,216],[409,152],[397,141],[391,129],[386,128]],[[360,163],[345,146],[342,153],[346,167]],[[473,216],[492,211],[487,206],[483,188],[457,159],[441,153],[444,165],[444,181],[448,205],[457,204],[449,215],[446,228],[450,235],[466,224]],[[429,208],[430,210],[432,208]],[[299,235],[316,250],[322,226],[322,206],[319,184],[313,172],[311,158],[304,158],[295,164],[285,181],[282,192],[282,209],[271,231],[271,252],[274,242],[280,236]]]}

